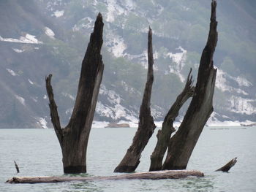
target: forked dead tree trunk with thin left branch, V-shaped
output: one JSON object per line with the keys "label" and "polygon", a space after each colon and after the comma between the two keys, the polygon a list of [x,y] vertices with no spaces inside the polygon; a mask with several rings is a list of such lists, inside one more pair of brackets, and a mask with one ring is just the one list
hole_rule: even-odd
{"label": "forked dead tree trunk with thin left branch, V-shaped", "polygon": [[83,58],[75,107],[65,128],[61,128],[57,106],[53,98],[53,88],[50,85],[52,75],[49,74],[45,79],[50,101],[50,117],[61,145],[64,173],[86,172],[87,144],[104,69],[100,54],[103,43],[103,25],[102,15],[99,13],[86,55]]}

